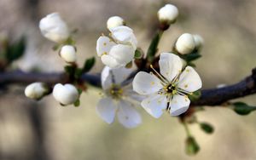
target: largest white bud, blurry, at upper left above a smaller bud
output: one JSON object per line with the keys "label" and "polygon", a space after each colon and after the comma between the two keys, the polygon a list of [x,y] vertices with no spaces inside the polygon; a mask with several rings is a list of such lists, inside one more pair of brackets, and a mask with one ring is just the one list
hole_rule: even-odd
{"label": "largest white bud, blurry, at upper left above a smaller bud", "polygon": [[69,30],[60,14],[48,14],[39,22],[39,28],[44,37],[55,43],[63,43],[69,37]]}

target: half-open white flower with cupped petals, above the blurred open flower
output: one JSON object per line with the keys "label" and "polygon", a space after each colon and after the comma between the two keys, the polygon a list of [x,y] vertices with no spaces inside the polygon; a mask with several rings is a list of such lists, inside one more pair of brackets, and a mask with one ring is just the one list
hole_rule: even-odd
{"label": "half-open white flower with cupped petals, above the blurred open flower", "polygon": [[128,26],[117,26],[110,31],[110,37],[98,38],[96,52],[104,65],[119,68],[133,60],[137,49],[137,38]]}

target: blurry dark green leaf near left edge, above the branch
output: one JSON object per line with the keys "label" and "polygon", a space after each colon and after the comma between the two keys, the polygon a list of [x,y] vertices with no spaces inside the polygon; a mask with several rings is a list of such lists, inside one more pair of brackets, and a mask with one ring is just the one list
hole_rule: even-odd
{"label": "blurry dark green leaf near left edge, above the branch", "polygon": [[14,60],[18,60],[25,53],[25,49],[26,37],[21,37],[19,41],[8,46],[5,54],[6,60],[8,60],[9,63],[13,62]]}

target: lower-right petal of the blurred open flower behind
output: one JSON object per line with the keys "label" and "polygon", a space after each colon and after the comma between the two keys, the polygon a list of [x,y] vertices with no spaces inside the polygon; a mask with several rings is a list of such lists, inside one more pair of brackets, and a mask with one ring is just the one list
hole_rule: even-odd
{"label": "lower-right petal of the blurred open flower behind", "polygon": [[142,123],[140,114],[131,103],[125,100],[120,100],[117,116],[119,118],[119,123],[123,124],[126,128],[135,128]]}

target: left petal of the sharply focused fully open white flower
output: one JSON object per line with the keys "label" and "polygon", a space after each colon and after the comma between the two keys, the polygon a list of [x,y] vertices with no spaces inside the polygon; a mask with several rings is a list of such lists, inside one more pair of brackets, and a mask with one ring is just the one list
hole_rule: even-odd
{"label": "left petal of the sharply focused fully open white flower", "polygon": [[138,94],[153,94],[162,89],[160,79],[145,71],[137,73],[133,79],[132,87]]}

